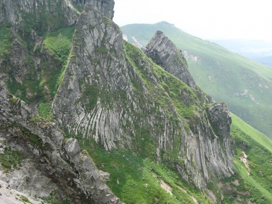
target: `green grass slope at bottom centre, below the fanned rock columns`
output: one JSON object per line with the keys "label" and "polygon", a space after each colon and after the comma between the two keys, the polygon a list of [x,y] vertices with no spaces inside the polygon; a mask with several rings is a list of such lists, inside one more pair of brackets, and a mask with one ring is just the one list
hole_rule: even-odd
{"label": "green grass slope at bottom centre, below the fanned rock columns", "polygon": [[213,203],[201,190],[187,185],[177,172],[163,164],[156,164],[130,151],[107,152],[92,140],[78,139],[97,168],[110,173],[107,185],[124,203],[194,204],[193,199],[200,203]]}

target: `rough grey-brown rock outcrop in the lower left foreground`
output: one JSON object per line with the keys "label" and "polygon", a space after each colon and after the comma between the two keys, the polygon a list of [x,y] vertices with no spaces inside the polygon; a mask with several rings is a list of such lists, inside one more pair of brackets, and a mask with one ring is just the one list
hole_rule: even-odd
{"label": "rough grey-brown rock outcrop in the lower left foreground", "polygon": [[0,83],[0,142],[24,155],[21,167],[1,173],[0,178],[32,195],[46,196],[57,190],[61,199],[72,203],[120,203],[88,153],[80,153],[77,140],[63,141],[55,123],[34,116],[25,102]]}

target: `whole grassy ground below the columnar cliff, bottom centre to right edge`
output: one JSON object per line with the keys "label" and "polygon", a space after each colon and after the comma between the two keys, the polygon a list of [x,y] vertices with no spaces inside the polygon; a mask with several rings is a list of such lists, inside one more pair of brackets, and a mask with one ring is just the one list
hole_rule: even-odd
{"label": "whole grassy ground below the columnar cliff, bottom centre to right edge", "polygon": [[[217,192],[222,203],[272,203],[272,141],[232,114],[231,125],[235,176],[225,178]],[[105,151],[95,141],[78,137],[83,150],[100,170],[110,173],[108,186],[125,203],[213,203],[206,193],[186,184],[175,171],[130,151]],[[241,160],[247,155],[245,163]],[[228,188],[229,187],[229,188]],[[223,195],[223,196],[222,196]]]}

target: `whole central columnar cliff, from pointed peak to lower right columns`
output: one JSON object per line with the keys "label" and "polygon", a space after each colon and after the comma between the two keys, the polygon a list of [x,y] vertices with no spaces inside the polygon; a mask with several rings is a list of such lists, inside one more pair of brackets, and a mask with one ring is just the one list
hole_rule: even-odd
{"label": "whole central columnar cliff, from pointed peak to lower right columns", "polygon": [[[70,60],[53,102],[54,118],[62,128],[92,138],[106,150],[125,148],[167,161],[198,187],[233,173],[230,122],[224,123],[224,134],[213,130],[208,120],[213,113],[206,113],[204,106],[210,98],[198,97],[199,92],[205,94],[156,66],[132,45],[124,47],[119,27],[91,4],[85,4],[75,30]],[[171,51],[168,42],[163,48]],[[177,75],[196,88],[186,62],[177,60],[181,53],[170,56],[165,69],[176,65]],[[223,115],[225,105],[216,106],[222,111],[217,120],[229,121],[229,115]]]}

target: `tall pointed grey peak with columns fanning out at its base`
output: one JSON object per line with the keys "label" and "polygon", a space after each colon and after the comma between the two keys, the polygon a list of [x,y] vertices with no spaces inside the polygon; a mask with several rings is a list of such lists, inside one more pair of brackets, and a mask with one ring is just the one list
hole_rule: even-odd
{"label": "tall pointed grey peak with columns fanning out at its base", "polygon": [[[101,16],[89,3],[85,4],[75,29],[72,56],[53,102],[53,112],[62,127],[86,138],[92,135],[105,149],[111,150],[124,135],[119,113],[114,111],[119,104],[114,101],[109,104],[99,95],[108,92],[112,96],[114,92],[125,91],[127,97],[133,98],[129,93],[132,86],[122,34],[115,23]],[[129,120],[129,116],[122,115]]]}

